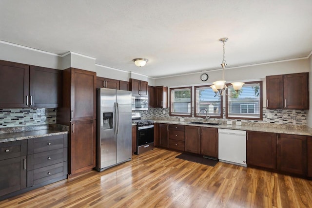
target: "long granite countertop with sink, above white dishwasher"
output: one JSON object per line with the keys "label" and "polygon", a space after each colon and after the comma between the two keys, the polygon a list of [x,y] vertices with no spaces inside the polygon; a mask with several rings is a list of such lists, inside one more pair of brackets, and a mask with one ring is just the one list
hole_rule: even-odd
{"label": "long granite countertop with sink, above white dishwasher", "polygon": [[[187,126],[200,126],[200,127],[210,127],[218,129],[234,129],[234,130],[245,130],[245,131],[254,131],[254,132],[272,132],[272,133],[287,133],[287,134],[296,134],[296,135],[306,135],[312,136],[312,132],[308,129],[296,129],[296,128],[272,128],[268,126],[246,126],[246,125],[227,125],[220,124],[217,126],[214,125],[205,125],[205,124],[190,124],[190,121],[172,121],[172,120],[154,120],[156,123],[165,123],[165,124],[180,124]],[[273,125],[271,125],[273,126]]]}

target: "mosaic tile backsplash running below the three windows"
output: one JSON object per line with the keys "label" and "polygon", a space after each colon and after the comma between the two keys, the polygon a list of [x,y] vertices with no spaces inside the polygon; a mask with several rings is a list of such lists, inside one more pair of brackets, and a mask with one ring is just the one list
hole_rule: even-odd
{"label": "mosaic tile backsplash running below the three windows", "polygon": [[[192,109],[192,114],[194,115],[194,107]],[[139,111],[141,112],[142,117],[146,118],[182,118],[181,116],[169,116],[169,108],[149,108],[148,111]],[[223,108],[223,112],[225,112],[225,108]],[[268,113],[271,113],[272,118],[268,118]],[[294,124],[294,125],[307,125],[307,113],[308,110],[271,110],[263,108],[263,120],[238,120],[232,119],[234,121],[244,121],[244,122],[256,122],[256,123],[274,123],[274,124]],[[185,117],[191,118],[191,117]],[[192,117],[194,119],[201,119]],[[231,119],[225,118],[225,113],[223,113],[223,118],[211,118],[211,120],[218,120],[218,121],[226,121]]]}

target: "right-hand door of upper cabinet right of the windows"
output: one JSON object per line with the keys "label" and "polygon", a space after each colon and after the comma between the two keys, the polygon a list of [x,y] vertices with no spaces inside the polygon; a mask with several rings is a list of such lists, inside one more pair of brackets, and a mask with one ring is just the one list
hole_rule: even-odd
{"label": "right-hand door of upper cabinet right of the windows", "polygon": [[309,108],[308,75],[308,73],[284,75],[285,109]]}

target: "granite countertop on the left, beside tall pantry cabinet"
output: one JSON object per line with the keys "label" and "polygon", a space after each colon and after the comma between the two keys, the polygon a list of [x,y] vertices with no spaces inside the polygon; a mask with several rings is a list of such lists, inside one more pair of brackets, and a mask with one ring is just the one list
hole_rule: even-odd
{"label": "granite countertop on the left, beside tall pantry cabinet", "polygon": [[7,128],[7,132],[1,131],[0,133],[0,143],[68,133],[68,129],[61,125],[50,125],[46,128],[32,128],[30,130],[31,131],[27,131],[27,129],[23,129],[23,131],[20,132],[12,132],[14,129]]}

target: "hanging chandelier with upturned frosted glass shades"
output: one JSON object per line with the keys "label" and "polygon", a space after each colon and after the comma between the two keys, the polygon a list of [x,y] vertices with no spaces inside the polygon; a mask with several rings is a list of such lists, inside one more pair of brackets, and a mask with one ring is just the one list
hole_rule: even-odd
{"label": "hanging chandelier with upturned frosted glass shades", "polygon": [[[222,60],[222,63],[221,63],[221,66],[222,66],[222,72],[223,72],[223,76],[222,76],[222,80],[220,81],[215,81],[213,82],[214,85],[210,86],[213,91],[215,92],[215,96],[222,96],[223,94],[225,95],[228,95],[227,94],[227,89],[228,87],[225,85],[225,78],[224,78],[224,75],[225,75],[225,67],[226,65],[228,65],[226,62],[225,62],[225,42],[228,41],[229,38],[220,38],[219,41],[223,43],[223,60]],[[237,95],[239,94],[239,90],[242,89],[243,85],[245,84],[245,82],[233,82],[231,83],[233,85],[233,88],[236,92],[236,94],[234,95]],[[228,95],[228,96],[234,96],[234,95]]]}

